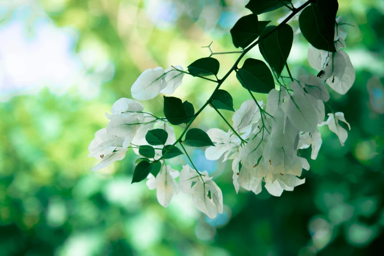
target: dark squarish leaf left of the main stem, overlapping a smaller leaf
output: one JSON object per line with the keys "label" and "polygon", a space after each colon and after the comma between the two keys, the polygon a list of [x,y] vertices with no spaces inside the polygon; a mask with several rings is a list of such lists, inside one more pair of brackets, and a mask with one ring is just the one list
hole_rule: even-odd
{"label": "dark squarish leaf left of the main stem, overlapping a smaller leaf", "polygon": [[185,105],[176,97],[164,96],[164,115],[172,125],[180,125],[189,120]]}

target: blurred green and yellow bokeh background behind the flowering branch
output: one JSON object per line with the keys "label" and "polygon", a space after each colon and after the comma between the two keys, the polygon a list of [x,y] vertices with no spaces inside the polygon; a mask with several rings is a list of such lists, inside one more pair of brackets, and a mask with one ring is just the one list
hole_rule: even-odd
{"label": "blurred green and yellow bokeh background behind the flowering branch", "polygon": [[[294,1],[295,2],[295,1]],[[309,160],[305,184],[281,197],[232,185],[231,161],[197,168],[215,177],[224,212],[210,220],[177,195],[167,208],[144,182],[131,183],[127,157],[98,172],[87,158],[94,133],[114,101],[147,68],[188,66],[234,51],[229,29],[247,0],[1,0],[0,1],[0,255],[1,256],[367,256],[384,255],[384,1],[339,0],[347,48],[357,72],[344,96],[329,104],[352,130],[345,147],[322,128],[323,146]],[[300,4],[300,3],[298,3]],[[259,16],[276,20],[281,8]],[[298,22],[290,23],[294,30]],[[308,43],[295,42],[294,76],[315,74]],[[217,55],[219,76],[237,54]],[[262,59],[258,49],[249,57]],[[235,76],[223,84],[235,109],[249,98]],[[215,84],[185,77],[176,97],[199,108]],[[265,95],[257,99],[266,100]],[[162,115],[162,97],[144,102]],[[231,113],[224,113],[231,120]],[[212,109],[193,127],[227,129]],[[181,128],[175,128],[176,135]],[[308,152],[302,155],[309,158]],[[187,161],[172,160],[180,170]]]}

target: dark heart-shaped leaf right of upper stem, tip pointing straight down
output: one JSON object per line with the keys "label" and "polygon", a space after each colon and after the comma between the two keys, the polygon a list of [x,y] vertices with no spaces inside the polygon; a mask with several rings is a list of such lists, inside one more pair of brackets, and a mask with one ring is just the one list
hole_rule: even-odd
{"label": "dark heart-shaped leaf right of upper stem, tip pointing straight down", "polygon": [[291,26],[284,24],[268,37],[263,37],[275,27],[267,26],[264,29],[259,43],[259,50],[271,68],[280,75],[292,48],[293,30]]}

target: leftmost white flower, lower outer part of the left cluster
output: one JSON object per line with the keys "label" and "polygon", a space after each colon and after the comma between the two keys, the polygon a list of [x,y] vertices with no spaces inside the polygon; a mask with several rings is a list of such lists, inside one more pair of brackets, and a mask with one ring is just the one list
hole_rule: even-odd
{"label": "leftmost white flower, lower outer part of the left cluster", "polygon": [[101,161],[92,168],[92,171],[100,170],[114,161],[123,159],[126,153],[123,143],[124,137],[109,134],[106,128],[98,130],[95,133],[95,139],[89,144],[88,157],[95,157]]}

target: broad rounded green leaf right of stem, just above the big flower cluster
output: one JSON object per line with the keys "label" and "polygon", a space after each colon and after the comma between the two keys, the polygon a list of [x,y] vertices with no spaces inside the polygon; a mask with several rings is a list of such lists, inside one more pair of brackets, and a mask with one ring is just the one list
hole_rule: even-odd
{"label": "broad rounded green leaf right of stem, just above the big flower cluster", "polygon": [[274,77],[267,64],[258,59],[248,58],[237,71],[237,79],[244,88],[257,93],[269,93],[274,89]]}

